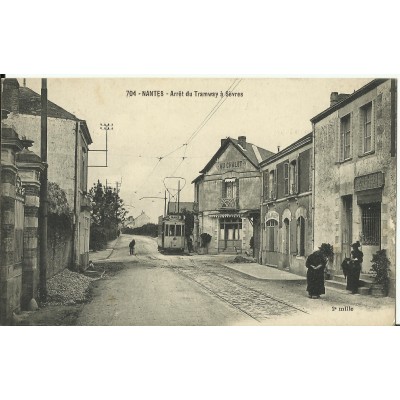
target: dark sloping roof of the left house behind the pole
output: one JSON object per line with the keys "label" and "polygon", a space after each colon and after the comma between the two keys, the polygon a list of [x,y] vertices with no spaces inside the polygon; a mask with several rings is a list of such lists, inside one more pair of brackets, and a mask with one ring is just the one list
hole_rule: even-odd
{"label": "dark sloping roof of the left house behind the pole", "polygon": [[[34,92],[32,89],[27,87],[19,88],[19,113],[28,115],[40,115],[42,110],[42,99],[40,94]],[[81,120],[74,114],[64,110],[57,104],[47,101],[47,116],[50,118],[61,118],[70,119],[72,121],[80,122],[83,135],[86,138],[88,144],[93,143],[92,137],[90,136],[89,128],[85,120]]]}

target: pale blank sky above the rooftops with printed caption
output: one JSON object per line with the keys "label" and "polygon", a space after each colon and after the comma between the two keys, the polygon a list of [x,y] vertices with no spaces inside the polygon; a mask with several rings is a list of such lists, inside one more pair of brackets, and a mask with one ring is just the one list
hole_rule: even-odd
{"label": "pale blank sky above the rooftops with printed caption", "polygon": [[[177,192],[177,180],[167,179],[165,185],[164,178],[183,178],[180,200],[193,201],[191,182],[222,138],[246,136],[276,152],[311,132],[310,119],[329,107],[331,92],[352,93],[370,80],[49,78],[47,88],[49,100],[86,120],[91,150],[105,149],[100,124],[113,124],[107,135],[108,167],[89,168],[89,188],[98,179],[113,187],[119,182],[129,215],[144,211],[156,222],[166,187]],[[40,93],[41,81],[26,78],[26,86]],[[144,96],[148,91],[153,96]],[[226,96],[227,91],[234,95]],[[105,165],[105,153],[89,152],[90,165]]]}

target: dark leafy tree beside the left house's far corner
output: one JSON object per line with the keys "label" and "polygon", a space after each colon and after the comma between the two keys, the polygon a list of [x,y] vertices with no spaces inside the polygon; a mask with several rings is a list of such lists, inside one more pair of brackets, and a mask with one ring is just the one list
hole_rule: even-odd
{"label": "dark leafy tree beside the left house's far corner", "polygon": [[127,211],[117,190],[104,187],[100,181],[89,190],[89,198],[92,205],[90,248],[98,250],[117,237]]}

